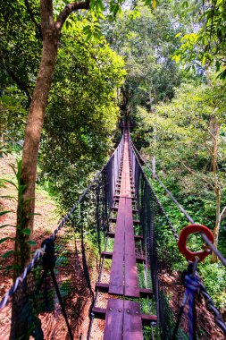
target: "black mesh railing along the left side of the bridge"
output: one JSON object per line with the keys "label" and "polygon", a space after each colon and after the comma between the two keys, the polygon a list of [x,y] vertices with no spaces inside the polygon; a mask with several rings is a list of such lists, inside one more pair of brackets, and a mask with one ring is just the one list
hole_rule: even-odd
{"label": "black mesh railing along the left side of the bridge", "polygon": [[123,138],[0,302],[0,339],[86,339]]}

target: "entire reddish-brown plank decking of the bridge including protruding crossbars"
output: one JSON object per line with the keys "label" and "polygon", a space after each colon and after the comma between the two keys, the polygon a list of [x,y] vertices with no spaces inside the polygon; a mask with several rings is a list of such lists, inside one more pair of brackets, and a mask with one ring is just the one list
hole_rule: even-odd
{"label": "entire reddish-brown plank decking of the bridge including protruding crossbars", "polygon": [[[109,294],[118,295],[109,298],[106,309],[93,308],[96,317],[105,319],[104,340],[141,340],[143,339],[143,326],[156,321],[155,315],[142,314],[138,300],[140,296],[150,296],[150,289],[141,289],[138,286],[137,262],[145,261],[136,256],[135,240],[142,239],[141,235],[134,234],[133,213],[136,198],[133,190],[133,178],[130,168],[128,134],[125,133],[123,157],[119,174],[118,190],[114,196],[118,202],[113,253],[103,253],[103,256],[112,259],[110,282],[108,285],[96,283],[96,287]],[[136,204],[135,204],[136,205]],[[120,297],[121,298],[118,298]],[[129,298],[131,301],[129,301]],[[126,299],[126,300],[125,300]]]}

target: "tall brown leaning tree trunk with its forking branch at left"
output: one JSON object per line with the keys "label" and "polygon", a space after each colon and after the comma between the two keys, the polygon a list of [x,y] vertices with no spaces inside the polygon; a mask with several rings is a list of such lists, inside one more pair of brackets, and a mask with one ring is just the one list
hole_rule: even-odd
{"label": "tall brown leaning tree trunk with its forking branch at left", "polygon": [[72,1],[66,4],[54,22],[53,0],[40,0],[43,50],[41,64],[33,97],[29,106],[29,117],[23,145],[20,185],[17,207],[17,234],[14,276],[20,274],[30,259],[29,233],[32,236],[35,209],[35,186],[38,163],[38,149],[46,112],[47,99],[54,74],[54,64],[63,23],[70,13],[87,10],[89,0]]}

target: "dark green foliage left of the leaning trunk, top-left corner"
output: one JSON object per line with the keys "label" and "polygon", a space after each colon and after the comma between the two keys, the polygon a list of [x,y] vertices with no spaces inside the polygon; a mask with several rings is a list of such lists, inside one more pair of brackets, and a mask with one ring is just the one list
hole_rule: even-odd
{"label": "dark green foliage left of the leaning trunk, top-left corner", "polygon": [[[39,22],[39,1],[30,4]],[[24,1],[0,4],[0,134],[11,145],[23,140],[38,72],[41,40]]]}

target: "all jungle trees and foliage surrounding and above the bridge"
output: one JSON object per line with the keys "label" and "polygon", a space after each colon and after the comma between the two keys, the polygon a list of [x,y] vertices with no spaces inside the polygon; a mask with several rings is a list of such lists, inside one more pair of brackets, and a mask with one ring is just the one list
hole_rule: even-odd
{"label": "all jungle trees and foliage surrounding and above the bridge", "polygon": [[[71,207],[113,151],[121,116],[225,255],[225,20],[225,0],[1,2],[1,151],[21,157],[15,275],[30,259],[36,183]],[[180,230],[180,213],[151,180]],[[225,278],[211,262],[204,276]],[[220,283],[208,282],[223,308]]]}

